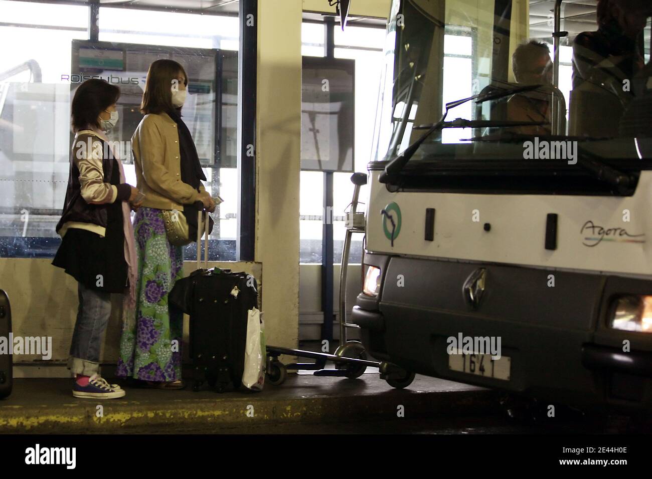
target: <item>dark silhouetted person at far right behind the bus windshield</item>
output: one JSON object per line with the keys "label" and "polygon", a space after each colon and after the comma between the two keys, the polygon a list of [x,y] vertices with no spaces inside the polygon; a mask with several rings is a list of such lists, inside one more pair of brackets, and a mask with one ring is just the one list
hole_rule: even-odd
{"label": "dark silhouetted person at far right behind the bus windshield", "polygon": [[[627,81],[645,62],[640,35],[649,1],[599,0],[597,31],[573,43],[571,130],[596,138],[617,136],[618,122],[632,100]],[[575,125],[575,126],[573,126]]]}

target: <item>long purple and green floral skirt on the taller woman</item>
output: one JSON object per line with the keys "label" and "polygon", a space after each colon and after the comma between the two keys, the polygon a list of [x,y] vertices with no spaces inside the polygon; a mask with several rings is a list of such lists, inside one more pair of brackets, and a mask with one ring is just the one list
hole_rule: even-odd
{"label": "long purple and green floral skirt on the taller woman", "polygon": [[141,207],[134,218],[138,253],[136,311],[126,311],[117,375],[145,381],[181,379],[183,313],[168,309],[181,278],[183,249],[166,237],[161,210]]}

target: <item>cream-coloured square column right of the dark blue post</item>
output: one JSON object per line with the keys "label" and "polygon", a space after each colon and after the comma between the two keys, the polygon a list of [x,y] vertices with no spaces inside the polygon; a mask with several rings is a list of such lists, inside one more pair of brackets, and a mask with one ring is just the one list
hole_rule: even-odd
{"label": "cream-coloured square column right of the dark blue post", "polygon": [[299,337],[302,1],[258,2],[256,261],[267,343]]}

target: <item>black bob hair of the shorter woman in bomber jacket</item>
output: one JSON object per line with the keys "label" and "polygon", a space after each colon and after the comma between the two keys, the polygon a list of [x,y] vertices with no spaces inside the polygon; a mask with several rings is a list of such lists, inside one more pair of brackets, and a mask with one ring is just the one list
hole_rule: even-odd
{"label": "black bob hair of the shorter woman in bomber jacket", "polygon": [[84,81],[72,97],[72,129],[99,128],[100,113],[120,98],[120,89],[107,81],[91,78]]}

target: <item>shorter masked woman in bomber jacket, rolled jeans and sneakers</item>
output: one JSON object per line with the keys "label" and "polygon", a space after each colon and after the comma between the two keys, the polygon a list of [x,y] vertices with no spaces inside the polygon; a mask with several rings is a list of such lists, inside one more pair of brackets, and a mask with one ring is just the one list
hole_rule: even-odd
{"label": "shorter masked woman in bomber jacket, rolled jeans and sneakers", "polygon": [[[125,390],[99,374],[100,347],[111,313],[111,293],[135,300],[136,251],[129,202],[138,190],[125,174],[104,132],[117,123],[120,90],[87,80],[72,99],[70,175],[57,233],[61,245],[52,264],[78,282],[79,308],[68,368],[76,375],[76,398],[121,398]],[[133,205],[136,209],[138,204]]]}

